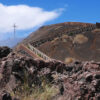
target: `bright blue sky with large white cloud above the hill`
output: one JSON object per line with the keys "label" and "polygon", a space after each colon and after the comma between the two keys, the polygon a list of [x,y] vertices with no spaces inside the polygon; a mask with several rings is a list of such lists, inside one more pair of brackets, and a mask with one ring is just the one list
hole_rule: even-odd
{"label": "bright blue sky with large white cloud above the hill", "polygon": [[12,36],[14,23],[17,36],[25,37],[41,25],[100,22],[100,0],[0,0],[0,4],[0,40]]}

